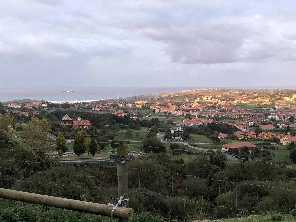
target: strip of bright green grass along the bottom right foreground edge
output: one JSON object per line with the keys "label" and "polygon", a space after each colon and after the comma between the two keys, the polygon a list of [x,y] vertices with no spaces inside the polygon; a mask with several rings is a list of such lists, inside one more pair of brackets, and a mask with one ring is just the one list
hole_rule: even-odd
{"label": "strip of bright green grass along the bottom right foreground edge", "polygon": [[[283,222],[294,222],[296,217],[293,217],[289,214],[283,214],[282,220]],[[271,215],[250,215],[248,217],[241,217],[241,218],[232,218],[232,219],[223,219],[223,220],[210,220],[205,222],[271,222]]]}

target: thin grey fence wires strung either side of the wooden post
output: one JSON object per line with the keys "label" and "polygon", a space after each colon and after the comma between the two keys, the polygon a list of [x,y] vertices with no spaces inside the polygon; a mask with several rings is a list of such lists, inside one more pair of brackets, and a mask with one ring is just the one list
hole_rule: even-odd
{"label": "thin grey fence wires strung either side of the wooden post", "polygon": [[[36,142],[38,143],[38,142]],[[108,144],[111,144],[111,143],[108,143]],[[143,146],[143,147],[152,147],[152,146],[145,146],[145,145],[142,145],[142,144],[129,144],[129,145],[138,145],[138,146]],[[128,145],[128,146],[129,146]],[[172,149],[172,148],[166,148],[166,147],[153,147],[153,148],[157,148],[157,149],[167,149],[167,150],[172,150],[172,151],[186,151],[186,150],[183,150],[183,149]],[[263,211],[260,211],[260,210],[257,210],[257,207],[258,207],[258,189],[260,186],[263,186],[263,187],[268,187],[268,188],[272,188],[272,189],[277,189],[277,191],[279,189],[284,189],[284,190],[287,190],[287,191],[293,191],[295,192],[296,190],[293,190],[293,189],[287,189],[287,188],[284,188],[284,187],[279,187],[279,181],[277,179],[277,186],[274,187],[274,186],[268,186],[268,185],[264,185],[264,184],[250,184],[250,183],[247,183],[247,182],[243,182],[243,181],[240,181],[240,182],[233,182],[233,181],[227,181],[227,180],[218,180],[218,179],[213,179],[213,178],[207,178],[205,176],[205,156],[207,154],[213,154],[213,155],[223,155],[223,156],[230,156],[230,155],[225,155],[225,154],[222,154],[222,153],[216,153],[216,152],[207,152],[207,151],[200,151],[200,153],[203,153],[204,155],[204,163],[203,163],[203,176],[202,177],[199,177],[199,176],[194,176],[194,175],[189,175],[188,173],[187,174],[181,174],[181,173],[177,173],[177,172],[166,172],[164,170],[149,170],[149,169],[143,169],[143,168],[136,168],[136,167],[130,167],[129,169],[134,169],[134,170],[139,170],[140,172],[142,170],[145,170],[147,172],[155,172],[157,173],[157,188],[156,188],[156,193],[153,194],[153,193],[147,193],[147,192],[141,192],[141,191],[136,191],[136,190],[129,190],[129,192],[135,192],[135,193],[142,193],[142,194],[145,194],[145,195],[152,195],[152,196],[155,196],[155,204],[154,204],[154,211],[153,213],[155,213],[155,207],[156,207],[156,202],[157,202],[157,197],[165,197],[165,198],[170,198],[170,213],[169,213],[169,218],[171,217],[171,210],[172,210],[172,200],[173,199],[177,199],[177,200],[181,200],[181,201],[184,201],[184,214],[183,214],[183,217],[185,218],[185,202],[193,202],[195,204],[201,204],[201,208],[203,205],[208,205],[210,207],[217,207],[218,208],[218,218],[219,218],[219,208],[225,208],[225,209],[230,209],[230,210],[235,210],[235,215],[237,215],[237,211],[245,211],[247,213],[259,213],[259,214],[262,214],[262,213],[265,213],[265,214],[270,214],[270,215],[277,215],[275,213],[266,213],[266,212],[263,212]],[[174,152],[173,152],[173,155],[174,155]],[[186,159],[187,159],[187,163],[188,163],[188,158],[187,158],[187,153],[186,153]],[[238,161],[240,160],[249,160],[249,159],[246,159],[246,158],[237,158],[237,163]],[[30,161],[22,161],[22,160],[1,160],[1,161],[16,161],[16,162],[21,162],[21,163],[40,163],[40,162],[30,162]],[[221,160],[220,160],[221,161]],[[276,168],[278,166],[280,167],[291,167],[291,166],[285,166],[285,165],[278,165],[277,161],[276,163],[270,163],[270,162],[266,162],[266,161],[260,161],[260,160],[255,160],[257,161],[258,163],[268,163],[268,164],[273,164]],[[221,163],[221,162],[220,162]],[[92,165],[77,165],[77,164],[61,164],[61,163],[44,163],[44,164],[53,164],[53,165],[66,165],[66,166],[70,166],[70,165],[73,165],[73,166],[86,166],[86,167],[111,167],[111,169],[113,169],[113,167],[116,167],[116,166],[101,166],[101,165],[95,165],[95,166],[92,166]],[[296,168],[296,167],[293,167],[293,168]],[[11,166],[9,168],[2,168],[0,167],[0,173],[1,173],[1,169],[7,169],[7,170],[20,170],[20,169],[15,169],[15,168],[12,168]],[[45,175],[59,175],[59,176],[78,176],[78,177],[83,177],[83,175],[67,175],[67,174],[55,174],[55,173],[47,173],[47,172],[40,172],[40,171],[35,171],[35,168],[34,168],[34,165],[33,165],[33,171],[32,170],[20,170],[21,172],[29,172],[29,173],[33,173],[35,176],[36,174],[38,173],[43,173]],[[220,170],[221,170],[221,167],[220,167]],[[168,196],[168,195],[164,195],[164,194],[161,194],[158,192],[158,179],[159,179],[159,173],[167,173],[167,174],[171,174],[172,175],[172,190],[171,190],[171,196]],[[204,195],[204,191],[202,191],[202,202],[200,201],[196,201],[196,200],[192,200],[192,199],[187,199],[186,198],[186,194],[187,194],[187,184],[186,184],[186,192],[185,192],[185,196],[184,198],[181,198],[181,197],[175,197],[173,195],[174,193],[174,189],[173,189],[173,178],[174,178],[174,174],[175,175],[179,175],[179,176],[182,176],[183,178],[186,178],[186,181],[187,181],[187,178],[189,176],[192,176],[194,178],[198,178],[198,179],[202,179],[203,181],[205,180],[211,180],[211,181],[219,181],[219,188],[220,188],[220,183],[221,182],[227,182],[227,183],[231,183],[231,184],[236,184],[236,192],[237,192],[237,186],[238,184],[245,184],[245,185],[250,185],[250,186],[257,186],[257,204],[256,204],[256,210],[246,210],[246,209],[241,209],[241,208],[238,208],[237,207],[237,193],[236,193],[236,207],[233,208],[233,207],[227,207],[227,206],[223,206],[223,205],[220,205],[220,202],[218,200],[218,204],[211,204],[211,203],[208,203],[208,202],[204,202],[203,201],[203,195]],[[10,174],[10,176],[12,177],[12,174]],[[111,178],[113,180],[113,178],[116,178],[116,176],[111,176],[111,177],[104,177],[104,176],[87,176],[85,175],[86,177],[94,177],[94,178]],[[139,188],[141,187],[141,184],[140,184],[140,178],[141,178],[141,174],[139,174]],[[36,179],[36,178],[35,178]],[[101,187],[101,186],[77,186],[77,185],[65,185],[65,184],[54,184],[54,183],[48,183],[48,182],[40,182],[40,181],[28,181],[28,180],[18,180],[18,179],[8,179],[8,178],[2,178],[1,177],[1,174],[0,174],[0,181],[1,180],[6,180],[6,181],[20,181],[20,182],[28,182],[28,183],[35,183],[35,184],[45,184],[45,185],[54,185],[54,186],[65,186],[65,187],[80,187],[80,188],[97,188],[97,189],[117,189],[117,188],[110,188],[110,187]],[[2,184],[1,184],[2,186]],[[203,186],[204,186],[204,183],[203,183]],[[21,189],[21,188],[20,188]],[[203,190],[204,190],[204,187],[203,187]],[[42,191],[38,191],[37,189],[36,190],[31,190],[31,191],[35,191],[35,192],[42,192]],[[44,193],[49,193],[49,192],[44,192]],[[49,193],[50,194],[50,193]],[[60,194],[62,195],[62,194]],[[72,194],[72,190],[71,190],[71,194],[65,194],[65,195],[78,195],[78,194]],[[278,192],[277,192],[277,204],[276,204],[276,212],[278,210]],[[96,196],[94,196],[96,197]],[[218,194],[218,198],[220,198],[220,189],[219,189],[219,194]],[[139,207],[140,207],[140,198],[139,198]],[[139,208],[138,208],[138,212],[139,212]],[[166,217],[165,217],[166,218]],[[168,218],[166,218],[168,219]],[[180,221],[181,222],[181,221]]]}

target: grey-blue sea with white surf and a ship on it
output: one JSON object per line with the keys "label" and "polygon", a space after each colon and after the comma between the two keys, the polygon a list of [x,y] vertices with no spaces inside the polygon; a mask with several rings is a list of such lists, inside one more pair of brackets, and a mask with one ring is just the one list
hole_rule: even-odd
{"label": "grey-blue sea with white surf and a ship on it", "polygon": [[[48,102],[91,102],[102,99],[125,98],[153,93],[177,92],[192,87],[1,87],[0,101],[32,99]],[[75,92],[62,92],[74,90]]]}

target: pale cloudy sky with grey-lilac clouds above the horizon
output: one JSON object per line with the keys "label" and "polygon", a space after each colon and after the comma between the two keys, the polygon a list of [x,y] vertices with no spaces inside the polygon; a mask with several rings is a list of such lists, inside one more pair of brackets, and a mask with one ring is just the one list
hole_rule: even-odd
{"label": "pale cloudy sky with grey-lilac clouds above the horizon", "polygon": [[293,0],[2,1],[1,85],[296,85],[295,8]]}

